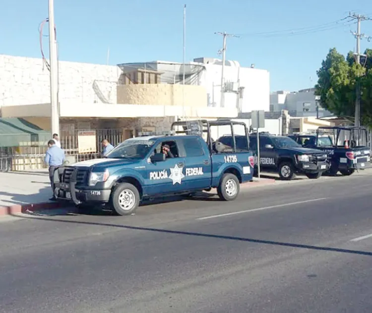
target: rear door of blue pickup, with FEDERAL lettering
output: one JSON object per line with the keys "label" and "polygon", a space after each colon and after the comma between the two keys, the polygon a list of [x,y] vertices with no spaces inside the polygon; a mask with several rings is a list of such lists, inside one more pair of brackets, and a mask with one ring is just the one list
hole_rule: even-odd
{"label": "rear door of blue pickup, with FEDERAL lettering", "polygon": [[[212,178],[212,166],[207,146],[202,145],[197,137],[182,138],[178,141],[182,142],[180,150],[186,156],[184,188],[186,190],[209,188]],[[182,148],[184,151],[182,151]]]}

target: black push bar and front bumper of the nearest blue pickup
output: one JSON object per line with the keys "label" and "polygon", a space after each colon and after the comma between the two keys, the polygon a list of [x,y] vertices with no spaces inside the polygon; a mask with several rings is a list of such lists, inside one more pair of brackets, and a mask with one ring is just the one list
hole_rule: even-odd
{"label": "black push bar and front bumper of the nearest blue pickup", "polygon": [[69,183],[54,183],[54,194],[57,199],[72,201],[75,205],[81,203],[105,203],[110,200],[110,189],[93,190],[76,188],[77,169],[75,169],[70,177]]}

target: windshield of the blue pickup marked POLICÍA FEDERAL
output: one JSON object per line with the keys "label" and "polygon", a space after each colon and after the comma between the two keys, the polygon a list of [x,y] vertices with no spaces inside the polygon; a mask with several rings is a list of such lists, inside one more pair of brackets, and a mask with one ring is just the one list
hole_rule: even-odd
{"label": "windshield of the blue pickup marked POLIC\u00cdA FEDERAL", "polygon": [[154,143],[154,140],[125,140],[110,151],[106,157],[110,159],[141,160],[146,157]]}

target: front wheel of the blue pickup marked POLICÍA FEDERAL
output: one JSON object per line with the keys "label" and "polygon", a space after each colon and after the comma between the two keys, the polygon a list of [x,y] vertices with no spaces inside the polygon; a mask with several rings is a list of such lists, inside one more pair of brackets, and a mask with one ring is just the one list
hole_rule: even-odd
{"label": "front wheel of the blue pickup marked POLIC\u00cdA FEDERAL", "polygon": [[117,185],[111,197],[111,204],[119,215],[131,215],[139,205],[138,189],[129,183]]}

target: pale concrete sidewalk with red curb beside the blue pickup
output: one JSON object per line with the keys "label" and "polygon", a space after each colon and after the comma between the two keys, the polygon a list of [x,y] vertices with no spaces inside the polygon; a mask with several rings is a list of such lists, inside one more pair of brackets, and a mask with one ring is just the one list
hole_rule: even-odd
{"label": "pale concrete sidewalk with red curb beside the blue pickup", "polygon": [[[253,182],[242,184],[241,188],[274,182],[273,179],[261,178],[260,181],[254,179]],[[0,173],[0,215],[71,206],[68,202],[49,201],[51,196],[48,170]]]}

